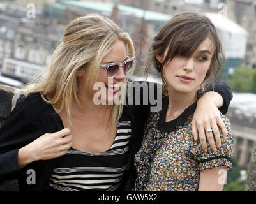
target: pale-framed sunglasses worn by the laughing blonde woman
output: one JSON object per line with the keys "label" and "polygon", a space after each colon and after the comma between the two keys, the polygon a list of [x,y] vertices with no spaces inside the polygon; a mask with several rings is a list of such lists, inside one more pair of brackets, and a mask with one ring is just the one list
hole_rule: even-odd
{"label": "pale-framed sunglasses worn by the laughing blonde woman", "polygon": [[100,64],[100,66],[107,71],[107,77],[114,78],[121,66],[123,67],[124,74],[127,75],[132,70],[135,58],[136,57],[128,57],[126,61],[121,63],[112,62],[108,64]]}

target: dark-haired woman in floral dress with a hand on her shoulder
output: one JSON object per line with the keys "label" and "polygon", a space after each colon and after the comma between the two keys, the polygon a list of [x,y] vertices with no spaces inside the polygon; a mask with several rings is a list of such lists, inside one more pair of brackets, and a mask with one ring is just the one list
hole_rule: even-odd
{"label": "dark-haired woman in floral dress with a hand on her shoulder", "polygon": [[[135,191],[221,191],[227,170],[232,169],[229,119],[220,113],[227,135],[216,152],[204,152],[192,136],[197,91],[210,80],[215,82],[222,71],[215,26],[205,16],[181,13],[156,35],[152,51],[164,82],[163,108],[149,114],[135,156]],[[209,135],[216,128],[208,124],[199,132]]]}

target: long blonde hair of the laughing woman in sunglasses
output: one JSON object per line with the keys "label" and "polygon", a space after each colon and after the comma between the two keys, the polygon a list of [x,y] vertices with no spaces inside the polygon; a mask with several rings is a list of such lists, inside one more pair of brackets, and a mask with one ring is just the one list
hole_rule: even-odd
{"label": "long blonde hair of the laughing woman in sunglasses", "polygon": [[[93,87],[103,57],[110,52],[117,40],[124,41],[127,54],[131,57],[135,56],[129,34],[109,18],[91,14],[73,20],[66,27],[63,42],[54,51],[47,70],[27,85],[26,94],[40,92],[47,103],[59,105],[57,113],[65,108],[68,120],[72,123],[72,101],[75,100],[80,105],[77,95],[79,91],[77,73],[85,71],[87,78],[85,85]],[[134,66],[130,75],[133,69]],[[128,78],[125,82],[127,80]],[[50,99],[45,97],[49,94],[53,95]],[[122,103],[110,106],[109,129],[116,126],[122,111]]]}

